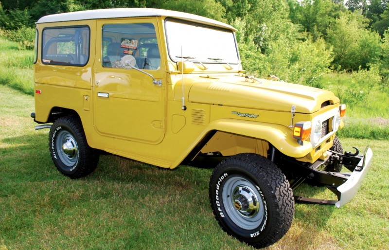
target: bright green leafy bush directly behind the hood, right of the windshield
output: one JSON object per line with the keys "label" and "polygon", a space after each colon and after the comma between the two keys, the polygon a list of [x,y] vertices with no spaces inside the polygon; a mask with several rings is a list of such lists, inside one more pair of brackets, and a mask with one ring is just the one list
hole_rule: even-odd
{"label": "bright green leafy bush directly behind the hood, right of the windshield", "polygon": [[325,43],[311,38],[288,41],[280,38],[270,42],[266,54],[260,54],[254,45],[241,44],[242,63],[248,71],[265,77],[276,75],[285,82],[321,88],[319,79],[332,61],[331,50]]}

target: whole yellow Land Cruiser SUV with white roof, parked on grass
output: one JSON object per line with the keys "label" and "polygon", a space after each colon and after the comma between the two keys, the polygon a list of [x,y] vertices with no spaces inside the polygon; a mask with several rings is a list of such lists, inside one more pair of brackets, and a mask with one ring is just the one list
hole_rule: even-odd
{"label": "whole yellow Land Cruiser SUV with white roof, parked on grass", "polygon": [[[350,201],[372,159],[343,153],[330,91],[245,75],[222,22],[158,9],[56,14],[36,23],[35,112],[58,170],[80,178],[106,151],[163,168],[213,168],[215,218],[254,247],[289,229],[295,202]],[[273,78],[274,79],[274,78]],[[340,172],[342,166],[350,172]],[[303,181],[338,200],[293,196]]]}

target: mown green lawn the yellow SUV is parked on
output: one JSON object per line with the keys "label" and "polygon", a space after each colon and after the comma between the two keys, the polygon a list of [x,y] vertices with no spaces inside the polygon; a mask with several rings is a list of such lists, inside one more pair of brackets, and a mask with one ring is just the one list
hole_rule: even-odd
{"label": "mown green lawn the yellow SUV is parked on", "polygon": [[[34,130],[33,97],[0,85],[0,99],[0,249],[251,249],[213,218],[211,170],[103,155],[88,177],[66,178],[48,130]],[[340,209],[296,204],[289,232],[268,249],[389,249],[389,141],[340,141],[374,152],[357,196]],[[334,198],[307,185],[296,193]]]}

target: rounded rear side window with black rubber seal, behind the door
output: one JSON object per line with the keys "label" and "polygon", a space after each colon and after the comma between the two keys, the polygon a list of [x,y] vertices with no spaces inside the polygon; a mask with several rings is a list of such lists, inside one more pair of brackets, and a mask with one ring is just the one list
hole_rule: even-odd
{"label": "rounded rear side window with black rubber seal, behind the door", "polygon": [[89,60],[88,26],[46,28],[42,32],[42,63],[84,66]]}

